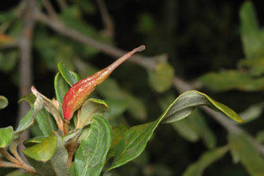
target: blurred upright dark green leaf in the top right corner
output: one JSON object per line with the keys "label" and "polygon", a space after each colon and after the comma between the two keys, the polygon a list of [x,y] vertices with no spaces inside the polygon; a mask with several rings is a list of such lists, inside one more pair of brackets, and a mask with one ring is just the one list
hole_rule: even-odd
{"label": "blurred upright dark green leaf in the top right corner", "polygon": [[241,38],[244,53],[247,58],[264,56],[264,41],[258,25],[256,12],[251,1],[245,1],[240,10]]}

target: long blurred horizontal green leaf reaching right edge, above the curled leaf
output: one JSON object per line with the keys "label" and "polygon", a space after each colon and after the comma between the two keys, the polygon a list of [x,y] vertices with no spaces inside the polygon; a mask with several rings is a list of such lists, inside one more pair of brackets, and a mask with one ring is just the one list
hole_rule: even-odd
{"label": "long blurred horizontal green leaf reaching right edge, above the curled leaf", "polygon": [[198,78],[205,87],[213,91],[238,89],[242,91],[261,91],[264,89],[264,78],[252,78],[248,73],[235,70],[220,73],[206,73]]}

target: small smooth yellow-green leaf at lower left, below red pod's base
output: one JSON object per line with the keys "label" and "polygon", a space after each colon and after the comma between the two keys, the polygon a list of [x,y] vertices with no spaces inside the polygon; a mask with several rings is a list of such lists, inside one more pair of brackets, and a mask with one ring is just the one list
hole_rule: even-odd
{"label": "small smooth yellow-green leaf at lower left, below red pod's base", "polygon": [[48,161],[53,157],[57,148],[57,137],[53,134],[47,137],[41,143],[30,148],[23,149],[23,153],[36,161]]}

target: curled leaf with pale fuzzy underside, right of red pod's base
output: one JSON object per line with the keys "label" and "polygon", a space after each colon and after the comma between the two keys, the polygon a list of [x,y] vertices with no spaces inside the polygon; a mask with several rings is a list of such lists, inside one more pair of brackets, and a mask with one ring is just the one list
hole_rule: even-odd
{"label": "curled leaf with pale fuzzy underside, right of red pod's base", "polygon": [[89,98],[82,105],[78,127],[82,128],[88,125],[93,116],[102,116],[104,112],[110,112],[109,105],[104,100]]}

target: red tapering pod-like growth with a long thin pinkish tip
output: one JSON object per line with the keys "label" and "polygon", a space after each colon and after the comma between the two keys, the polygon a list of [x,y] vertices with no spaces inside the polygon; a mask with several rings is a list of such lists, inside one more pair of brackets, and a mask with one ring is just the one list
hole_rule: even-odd
{"label": "red tapering pod-like growth with a long thin pinkish tip", "polygon": [[97,85],[100,85],[106,78],[110,76],[110,74],[125,60],[129,59],[131,55],[136,52],[143,51],[145,46],[139,46],[133,51],[126,53],[121,58],[113,62],[113,64],[109,65],[92,76],[88,78],[84,78],[83,80],[79,80],[75,85],[70,87],[64,96],[64,100],[62,102],[62,111],[64,114],[64,119],[70,120],[73,117],[73,113],[82,106],[86,98],[92,93]]}

